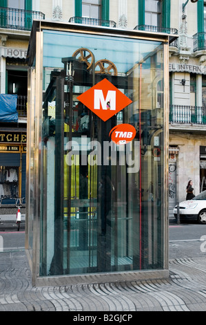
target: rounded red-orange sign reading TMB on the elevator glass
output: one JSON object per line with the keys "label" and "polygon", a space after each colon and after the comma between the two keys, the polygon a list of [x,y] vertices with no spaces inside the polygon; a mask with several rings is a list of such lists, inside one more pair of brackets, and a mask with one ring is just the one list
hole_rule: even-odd
{"label": "rounded red-orange sign reading TMB on the elevator glass", "polygon": [[136,136],[136,129],[131,124],[119,124],[110,131],[109,136],[116,145],[125,145]]}

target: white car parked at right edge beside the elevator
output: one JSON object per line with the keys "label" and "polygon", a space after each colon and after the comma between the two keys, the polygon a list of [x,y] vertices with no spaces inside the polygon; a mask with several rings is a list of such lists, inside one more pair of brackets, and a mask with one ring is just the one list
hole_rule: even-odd
{"label": "white car parked at right edge beside the elevator", "polygon": [[[177,205],[174,207],[174,217],[177,218]],[[180,221],[192,220],[206,224],[206,191],[201,192],[192,200],[179,204]]]}

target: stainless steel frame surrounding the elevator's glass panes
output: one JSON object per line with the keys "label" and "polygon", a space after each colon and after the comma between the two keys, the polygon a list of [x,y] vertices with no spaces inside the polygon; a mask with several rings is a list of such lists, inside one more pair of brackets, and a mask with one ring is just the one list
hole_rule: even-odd
{"label": "stainless steel frame surrounding the elevator's glass panes", "polygon": [[[114,272],[111,274],[92,274],[78,276],[52,276],[39,277],[39,254],[40,254],[40,212],[43,209],[41,203],[41,164],[43,154],[39,149],[41,142],[41,124],[42,117],[42,89],[43,89],[43,31],[44,29],[63,30],[68,32],[81,32],[85,34],[95,33],[97,35],[116,35],[121,37],[130,37],[134,39],[145,39],[148,41],[162,41],[164,43],[164,270],[154,271],[136,271],[136,272]],[[30,44],[28,48],[28,62],[30,72],[28,77],[28,160],[27,160],[27,179],[26,186],[26,228],[25,228],[25,249],[28,253],[28,261],[32,271],[33,286],[63,285],[89,283],[91,281],[125,281],[141,279],[163,279],[169,276],[168,270],[168,147],[169,147],[169,42],[176,39],[175,35],[164,33],[156,34],[151,32],[142,32],[138,30],[119,30],[112,28],[101,28],[93,26],[79,26],[78,24],[61,24],[49,21],[34,21]],[[33,65],[34,58],[35,70]],[[35,82],[34,82],[35,78]],[[35,96],[35,100],[34,100]],[[35,123],[35,125],[34,125]],[[33,152],[34,151],[34,156]],[[33,165],[32,165],[33,164]],[[34,169],[34,178],[32,179],[30,171]],[[32,189],[32,186],[34,187]],[[33,191],[33,192],[32,192]],[[33,197],[32,197],[33,195]],[[30,219],[33,223],[33,241],[30,247]]]}

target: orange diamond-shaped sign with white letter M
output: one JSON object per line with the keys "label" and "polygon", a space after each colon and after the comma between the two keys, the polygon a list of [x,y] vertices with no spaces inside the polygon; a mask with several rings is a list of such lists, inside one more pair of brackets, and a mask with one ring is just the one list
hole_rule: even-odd
{"label": "orange diamond-shaped sign with white letter M", "polygon": [[107,121],[113,115],[132,103],[107,79],[103,79],[92,88],[77,97],[88,109],[95,113],[101,120]]}

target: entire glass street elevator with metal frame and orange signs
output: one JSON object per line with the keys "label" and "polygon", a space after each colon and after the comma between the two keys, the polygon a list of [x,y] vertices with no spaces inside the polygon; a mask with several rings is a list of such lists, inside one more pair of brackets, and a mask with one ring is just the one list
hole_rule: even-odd
{"label": "entire glass street elevator with metal frame and orange signs", "polygon": [[34,21],[33,284],[168,277],[169,36]]}

